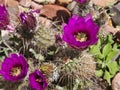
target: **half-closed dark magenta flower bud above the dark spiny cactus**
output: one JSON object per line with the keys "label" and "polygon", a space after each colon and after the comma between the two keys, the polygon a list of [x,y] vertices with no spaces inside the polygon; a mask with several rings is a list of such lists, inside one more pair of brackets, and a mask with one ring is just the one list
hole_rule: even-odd
{"label": "half-closed dark magenta flower bud above the dark spiny cactus", "polygon": [[31,29],[34,30],[36,28],[37,22],[36,22],[34,15],[33,15],[33,12],[21,13],[20,14],[20,21],[21,21],[21,24],[29,30],[31,30]]}

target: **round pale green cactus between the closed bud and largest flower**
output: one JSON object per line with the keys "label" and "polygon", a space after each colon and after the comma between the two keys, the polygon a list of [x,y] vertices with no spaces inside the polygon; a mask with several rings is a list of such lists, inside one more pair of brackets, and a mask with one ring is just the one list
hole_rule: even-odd
{"label": "round pale green cactus between the closed bud and largest flower", "polygon": [[48,48],[55,43],[55,32],[39,28],[35,35],[35,41],[39,48]]}

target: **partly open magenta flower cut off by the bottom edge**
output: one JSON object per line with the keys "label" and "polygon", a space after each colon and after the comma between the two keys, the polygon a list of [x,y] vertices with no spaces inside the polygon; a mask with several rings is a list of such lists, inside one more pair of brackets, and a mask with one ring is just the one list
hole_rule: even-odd
{"label": "partly open magenta flower cut off by the bottom edge", "polygon": [[39,70],[35,70],[29,75],[29,81],[34,90],[45,90],[48,86],[45,76]]}

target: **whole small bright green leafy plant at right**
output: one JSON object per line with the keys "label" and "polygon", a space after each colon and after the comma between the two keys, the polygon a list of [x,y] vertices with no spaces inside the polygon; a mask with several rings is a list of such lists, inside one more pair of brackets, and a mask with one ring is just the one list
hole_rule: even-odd
{"label": "whole small bright green leafy plant at right", "polygon": [[118,45],[114,43],[113,36],[100,38],[96,45],[90,47],[90,53],[95,56],[97,62],[96,76],[103,77],[109,85],[111,78],[119,70],[115,56],[118,54]]}

